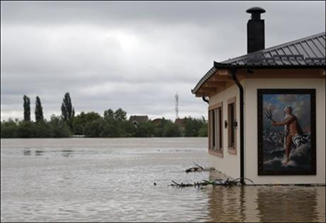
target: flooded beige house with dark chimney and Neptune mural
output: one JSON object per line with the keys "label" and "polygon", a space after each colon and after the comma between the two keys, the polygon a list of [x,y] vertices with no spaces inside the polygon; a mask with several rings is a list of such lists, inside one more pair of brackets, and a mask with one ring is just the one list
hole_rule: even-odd
{"label": "flooded beige house with dark chimney and Neptune mural", "polygon": [[265,10],[247,12],[247,54],[192,90],[209,104],[209,161],[242,183],[325,184],[325,33],[265,49]]}

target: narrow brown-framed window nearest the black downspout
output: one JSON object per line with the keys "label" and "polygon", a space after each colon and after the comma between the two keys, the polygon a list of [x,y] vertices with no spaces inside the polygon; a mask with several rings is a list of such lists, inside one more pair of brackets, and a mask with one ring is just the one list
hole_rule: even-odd
{"label": "narrow brown-framed window nearest the black downspout", "polygon": [[228,144],[229,152],[237,154],[237,109],[236,98],[232,98],[227,103],[227,129],[228,129]]}

